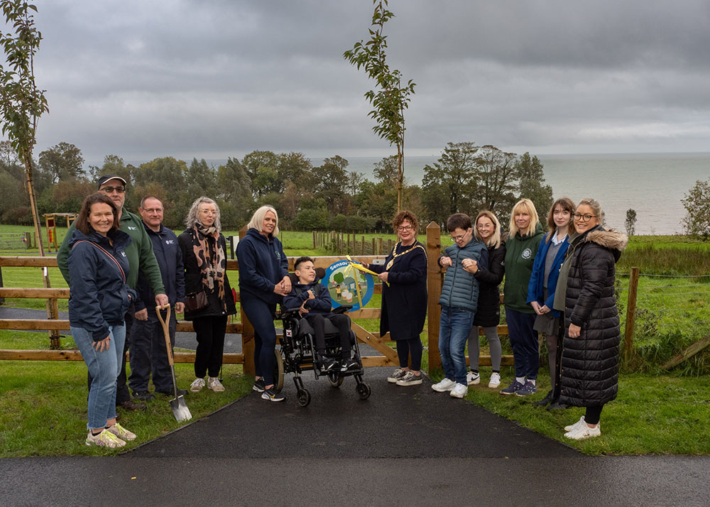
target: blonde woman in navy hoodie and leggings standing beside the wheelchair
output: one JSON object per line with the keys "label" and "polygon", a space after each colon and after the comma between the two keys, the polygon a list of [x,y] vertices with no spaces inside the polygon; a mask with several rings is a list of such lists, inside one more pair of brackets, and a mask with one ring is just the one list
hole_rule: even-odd
{"label": "blonde woman in navy hoodie and leggings standing beside the wheelchair", "polygon": [[283,401],[273,388],[273,362],[276,330],[273,327],[276,303],[291,292],[288,259],[278,241],[278,214],[271,206],[254,212],[247,224],[246,236],[236,247],[239,259],[239,293],[241,307],[254,327],[254,364],[256,379],[253,390],[261,398]]}

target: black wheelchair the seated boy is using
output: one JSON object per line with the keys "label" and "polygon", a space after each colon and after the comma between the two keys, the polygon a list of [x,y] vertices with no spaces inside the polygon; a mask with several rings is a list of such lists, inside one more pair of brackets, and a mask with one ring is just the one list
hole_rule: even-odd
{"label": "black wheelchair the seated boy is using", "polygon": [[[343,313],[351,306],[337,307],[334,313]],[[360,356],[360,349],[355,339],[355,333],[351,330],[351,356],[359,364],[359,369],[351,371],[324,372],[321,371],[316,361],[315,332],[307,320],[300,317],[298,308],[285,310],[281,309],[280,320],[283,322],[283,337],[280,339],[280,349],[275,350],[275,366],[273,371],[274,386],[277,391],[283,388],[283,378],[285,374],[293,373],[293,382],[296,386],[298,405],[306,407],[311,400],[310,391],[303,386],[301,374],[304,371],[312,370],[315,378],[325,376],[331,386],[339,388],[347,376],[355,378],[355,391],[361,400],[366,400],[370,396],[370,386],[363,381],[363,367]],[[325,320],[325,349],[326,358],[339,359],[341,357],[341,345],[338,329],[329,320]]]}

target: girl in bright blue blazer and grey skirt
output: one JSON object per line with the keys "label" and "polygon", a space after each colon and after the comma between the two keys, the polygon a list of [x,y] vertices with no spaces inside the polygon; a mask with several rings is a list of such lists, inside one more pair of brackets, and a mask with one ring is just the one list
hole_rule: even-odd
{"label": "girl in bright blue blazer and grey skirt", "polygon": [[552,308],[555,300],[555,287],[559,267],[562,266],[564,255],[567,254],[567,236],[572,224],[574,202],[567,197],[562,197],[552,203],[547,212],[548,232],[537,247],[535,263],[532,264],[532,276],[528,284],[528,303],[535,310],[535,325],[532,329],[545,334],[547,343],[547,364],[550,367],[550,384],[552,389],[542,400],[535,405],[565,408],[559,403],[559,358],[562,355],[562,341],[560,336],[560,312]]}

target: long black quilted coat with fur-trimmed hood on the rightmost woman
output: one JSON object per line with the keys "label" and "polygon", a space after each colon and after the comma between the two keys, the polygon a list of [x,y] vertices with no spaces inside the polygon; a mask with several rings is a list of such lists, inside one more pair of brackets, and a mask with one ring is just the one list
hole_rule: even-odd
{"label": "long black quilted coat with fur-trimmed hood on the rightmost woman", "polygon": [[[626,234],[597,226],[570,247],[560,403],[589,407],[616,398],[621,330],[614,281],[627,241]],[[579,338],[569,337],[570,323],[581,327]]]}

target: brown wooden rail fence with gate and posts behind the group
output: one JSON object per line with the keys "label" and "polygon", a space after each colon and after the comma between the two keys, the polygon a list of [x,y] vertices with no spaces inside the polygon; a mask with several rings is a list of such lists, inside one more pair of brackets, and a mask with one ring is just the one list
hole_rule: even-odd
{"label": "brown wooden rail fence with gate and posts behind the group", "polygon": [[[317,241],[314,233],[314,243]],[[327,233],[330,234],[330,233]],[[333,233],[334,234],[334,233]],[[246,235],[246,227],[239,231],[239,236]],[[331,238],[332,241],[333,238]],[[382,258],[386,252],[391,250],[388,245],[388,250],[383,250],[385,241],[378,239],[374,248],[378,254],[361,255],[359,252],[364,251],[365,244],[368,242],[355,241],[346,247],[346,252],[354,254],[354,259],[370,263],[374,258]],[[341,236],[341,244],[345,244]],[[440,368],[441,359],[439,357],[439,295],[442,290],[443,273],[437,259],[441,254],[441,229],[439,224],[432,222],[427,227],[427,289],[429,292],[428,302],[428,325],[427,325],[427,344],[429,349],[429,369]],[[315,257],[315,266],[327,268],[332,263],[342,260],[339,256],[320,256]],[[293,271],[293,262],[295,257],[288,258],[289,270]],[[57,260],[55,257],[24,257],[24,256],[0,256],[0,268],[3,266],[23,266],[23,267],[56,267]],[[228,271],[239,271],[239,261],[227,261]],[[375,285],[375,293],[382,292],[382,285]],[[67,288],[4,288],[0,287],[0,298],[39,298],[46,299],[51,304],[50,307],[56,309],[57,300],[68,299],[69,289]],[[239,301],[239,293],[237,293],[237,301]],[[241,307],[240,307],[241,308]],[[378,319],[380,317],[379,308],[364,308],[354,312],[349,312],[352,319]],[[26,320],[26,319],[0,319],[0,329],[23,329],[23,330],[50,330],[52,336],[52,345],[56,349],[59,347],[60,332],[69,330],[69,321],[58,319],[56,310],[53,315],[48,315],[48,319]],[[395,349],[388,346],[389,334],[381,337],[378,332],[368,332],[366,329],[353,322],[353,329],[357,339],[365,344],[370,345],[373,349],[379,351],[381,356],[365,356],[363,358],[364,366],[398,366],[398,358]],[[178,322],[177,330],[180,332],[194,332],[192,322]],[[227,325],[226,332],[241,334],[242,353],[241,354],[224,354],[224,363],[226,364],[243,364],[244,373],[253,375],[253,350],[254,350],[254,329],[249,322],[249,319],[241,311],[241,322],[230,322]],[[482,330],[479,330],[482,334]],[[507,335],[507,326],[498,326],[498,334]],[[77,350],[0,350],[0,360],[34,360],[34,361],[81,361],[82,356]],[[190,363],[195,361],[194,352],[176,352],[175,362]],[[490,366],[490,356],[481,356],[479,360],[481,366]],[[513,364],[513,356],[503,356],[504,365]]]}

